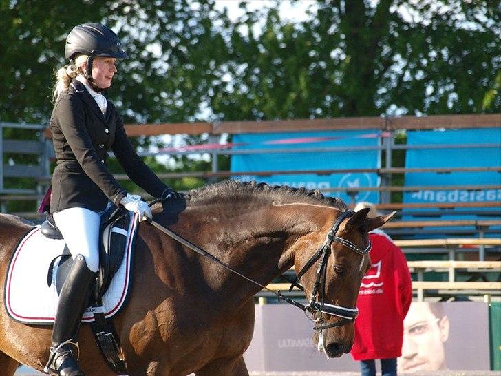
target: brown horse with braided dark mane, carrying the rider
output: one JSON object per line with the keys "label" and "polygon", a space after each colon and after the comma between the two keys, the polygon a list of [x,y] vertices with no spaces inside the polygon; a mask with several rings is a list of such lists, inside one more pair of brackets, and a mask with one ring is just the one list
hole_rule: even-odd
{"label": "brown horse with braided dark mane, carrying the rider", "polygon": [[[153,205],[153,213],[156,222],[259,284],[268,284],[292,266],[299,273],[311,260],[300,280],[308,301],[317,291],[314,305],[326,307],[323,313],[314,312],[323,326],[315,341],[321,338],[328,357],[350,351],[350,319],[370,265],[367,231],[392,214],[367,219],[366,210],[349,212],[341,200],[317,191],[237,182],[176,195]],[[29,229],[20,218],[0,216],[2,286],[10,255]],[[332,242],[326,242],[329,232]],[[312,256],[323,244],[325,268],[317,278],[323,258]],[[319,279],[325,282],[312,291]],[[248,375],[243,354],[253,335],[253,296],[259,289],[159,229],[141,224],[129,302],[114,318],[129,375]],[[15,322],[6,313],[3,293],[0,300],[1,375],[12,376],[19,363],[41,370],[50,327]],[[114,375],[88,325],[81,326],[78,341],[79,364],[86,375]]]}

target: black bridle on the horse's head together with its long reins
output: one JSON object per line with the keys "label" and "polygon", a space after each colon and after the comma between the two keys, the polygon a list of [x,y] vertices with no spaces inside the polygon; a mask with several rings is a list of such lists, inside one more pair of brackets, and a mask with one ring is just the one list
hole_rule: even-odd
{"label": "black bridle on the horse's head together with its long reins", "polygon": [[[159,200],[155,200],[151,202],[149,205],[153,205],[155,202],[158,202]],[[249,282],[252,282],[253,284],[256,284],[257,286],[261,287],[262,289],[265,289],[269,291],[270,293],[273,293],[277,295],[279,300],[284,300],[285,302],[288,302],[289,304],[292,304],[293,306],[297,306],[298,308],[302,309],[303,311],[308,311],[311,314],[315,313],[325,313],[326,315],[333,315],[337,317],[341,317],[341,320],[339,322],[335,322],[333,324],[327,324],[327,325],[319,325],[315,326],[314,329],[316,331],[322,331],[323,329],[327,328],[332,328],[334,326],[341,326],[344,324],[347,324],[350,322],[350,320],[354,320],[356,316],[359,314],[359,310],[355,308],[348,308],[344,306],[336,306],[334,304],[328,304],[324,302],[324,297],[325,297],[325,284],[326,284],[326,268],[327,268],[327,262],[328,262],[328,253],[330,251],[330,244],[332,242],[339,242],[343,244],[343,246],[348,247],[352,251],[355,251],[356,253],[359,253],[361,255],[367,255],[371,249],[371,243],[369,241],[369,244],[365,249],[360,249],[359,247],[356,247],[355,244],[350,242],[349,240],[345,240],[343,238],[339,238],[339,236],[336,236],[337,231],[339,230],[339,225],[345,218],[349,218],[354,215],[354,211],[345,211],[341,213],[341,216],[337,218],[337,220],[334,222],[332,225],[332,228],[330,229],[329,233],[327,234],[326,242],[315,252],[314,255],[306,262],[304,267],[299,271],[299,274],[297,275],[297,280],[303,276],[308,269],[312,266],[312,264],[319,258],[321,257],[321,262],[319,264],[319,267],[317,267],[317,278],[315,280],[315,284],[313,285],[312,289],[312,297],[310,300],[310,304],[304,305],[301,304],[295,300],[290,299],[289,297],[286,297],[281,294],[280,291],[273,291],[271,289],[268,289],[268,287],[260,284],[259,282],[256,282],[255,280],[252,280],[251,278],[246,277],[245,275],[242,275],[241,273],[235,271],[235,269],[232,269],[231,267],[228,267],[228,265],[224,264],[224,262],[221,262],[219,259],[217,259],[214,255],[211,255],[211,253],[205,251],[204,249],[201,249],[200,247],[197,247],[195,244],[189,242],[188,240],[182,238],[178,234],[174,233],[173,231],[167,229],[166,227],[163,227],[161,224],[158,222],[155,222],[154,220],[151,220],[150,224],[152,224],[154,227],[162,231],[163,233],[166,233],[168,236],[173,238],[174,240],[177,240],[181,244],[185,245],[189,249],[195,251],[196,253],[199,253],[200,255],[204,256],[205,258],[209,258],[210,260],[213,260],[213,262],[216,262],[217,264],[220,264],[222,267],[225,269],[231,271],[232,273],[235,273],[239,275],[240,277],[244,278],[245,280],[248,280]],[[304,291],[303,286],[300,284],[297,284],[296,281],[290,281],[292,283],[292,286],[297,286],[299,289]],[[292,289],[291,286],[291,289]],[[319,301],[317,302],[317,295],[319,295]],[[315,320],[316,322],[323,322],[323,319],[320,317],[319,319]]]}

